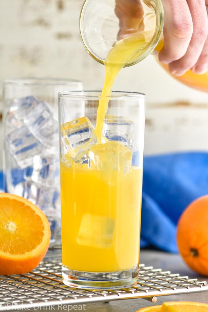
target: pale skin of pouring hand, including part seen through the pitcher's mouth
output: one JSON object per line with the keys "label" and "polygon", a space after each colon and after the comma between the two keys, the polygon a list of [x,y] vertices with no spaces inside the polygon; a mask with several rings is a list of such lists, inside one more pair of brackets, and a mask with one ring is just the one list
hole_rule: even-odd
{"label": "pale skin of pouring hand, including part seen through the pitcher's mouth", "polygon": [[[169,71],[181,76],[191,69],[204,74],[208,70],[208,0],[162,0],[165,23],[164,47],[158,59]],[[116,0],[119,36],[143,27],[141,0]]]}

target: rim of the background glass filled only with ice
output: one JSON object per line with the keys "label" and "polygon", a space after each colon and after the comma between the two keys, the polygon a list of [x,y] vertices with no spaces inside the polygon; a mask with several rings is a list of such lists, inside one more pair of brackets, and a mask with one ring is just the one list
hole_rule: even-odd
{"label": "rim of the background glass filled only with ice", "polygon": [[22,78],[11,78],[3,80],[3,84],[11,85],[77,85],[81,84],[80,80],[66,79],[66,78],[50,78],[50,77],[22,77]]}

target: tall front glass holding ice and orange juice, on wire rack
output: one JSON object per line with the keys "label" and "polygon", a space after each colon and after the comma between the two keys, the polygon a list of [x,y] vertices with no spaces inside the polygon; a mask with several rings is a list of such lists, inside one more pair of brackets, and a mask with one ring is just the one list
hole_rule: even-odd
{"label": "tall front glass holding ice and orange juice, on wire rack", "polygon": [[[145,95],[59,93],[62,276],[66,285],[137,283]],[[109,100],[102,141],[99,100]]]}

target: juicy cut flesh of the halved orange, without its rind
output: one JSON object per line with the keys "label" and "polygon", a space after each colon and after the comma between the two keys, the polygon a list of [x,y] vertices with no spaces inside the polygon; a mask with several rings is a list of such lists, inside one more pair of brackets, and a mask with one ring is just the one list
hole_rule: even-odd
{"label": "juicy cut flesh of the halved orange, without its rind", "polygon": [[[14,207],[18,210],[17,214],[14,214]],[[0,200],[0,216],[1,251],[20,255],[32,251],[41,243],[44,225],[31,207],[4,197]]]}

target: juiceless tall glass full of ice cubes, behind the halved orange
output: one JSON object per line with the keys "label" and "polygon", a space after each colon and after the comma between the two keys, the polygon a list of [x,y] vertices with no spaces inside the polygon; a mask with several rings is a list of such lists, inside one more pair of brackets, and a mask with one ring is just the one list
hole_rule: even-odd
{"label": "juiceless tall glass full of ice cubes, behind the halved orange", "polygon": [[41,208],[60,244],[60,169],[57,94],[80,90],[75,80],[4,82],[4,188]]}

